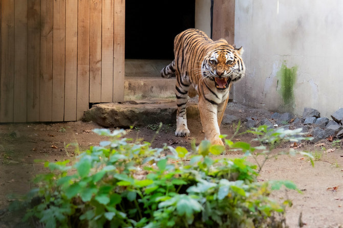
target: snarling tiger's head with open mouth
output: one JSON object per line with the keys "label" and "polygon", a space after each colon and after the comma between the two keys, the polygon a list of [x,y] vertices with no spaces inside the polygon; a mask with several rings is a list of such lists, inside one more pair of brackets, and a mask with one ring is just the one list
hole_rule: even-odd
{"label": "snarling tiger's head with open mouth", "polygon": [[243,51],[227,44],[209,51],[202,62],[202,76],[214,81],[217,89],[227,89],[231,81],[244,77]]}

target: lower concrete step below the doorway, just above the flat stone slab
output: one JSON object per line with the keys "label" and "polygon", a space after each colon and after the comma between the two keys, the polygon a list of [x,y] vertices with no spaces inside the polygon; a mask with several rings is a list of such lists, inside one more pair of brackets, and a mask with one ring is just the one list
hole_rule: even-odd
{"label": "lower concrete step below the doorway, just above the flat stone slab", "polygon": [[124,99],[173,99],[176,78],[125,77]]}

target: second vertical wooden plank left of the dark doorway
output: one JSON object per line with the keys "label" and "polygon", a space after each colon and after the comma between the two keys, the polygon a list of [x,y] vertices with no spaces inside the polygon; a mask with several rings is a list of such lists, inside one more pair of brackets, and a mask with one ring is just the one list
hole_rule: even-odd
{"label": "second vertical wooden plank left of the dark doorway", "polygon": [[102,1],[101,102],[113,97],[113,0]]}

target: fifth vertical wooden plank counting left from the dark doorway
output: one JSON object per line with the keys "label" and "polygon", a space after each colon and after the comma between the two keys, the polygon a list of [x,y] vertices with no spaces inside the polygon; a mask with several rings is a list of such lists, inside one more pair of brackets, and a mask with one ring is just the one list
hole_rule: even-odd
{"label": "fifth vertical wooden plank counting left from the dark doorway", "polygon": [[66,1],[65,121],[76,120],[77,97],[77,1]]}

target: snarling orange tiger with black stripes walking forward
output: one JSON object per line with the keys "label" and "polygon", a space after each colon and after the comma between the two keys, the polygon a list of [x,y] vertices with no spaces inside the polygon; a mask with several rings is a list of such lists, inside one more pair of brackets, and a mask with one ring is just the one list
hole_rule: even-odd
{"label": "snarling orange tiger with black stripes walking forward", "polygon": [[199,96],[198,109],[211,144],[224,145],[219,126],[233,82],[245,75],[243,47],[235,49],[225,39],[213,41],[203,31],[187,29],[174,39],[174,60],[161,70],[162,78],[176,77],[176,136],[189,136],[187,96]]}

